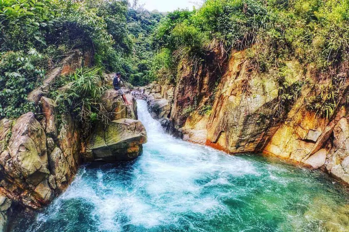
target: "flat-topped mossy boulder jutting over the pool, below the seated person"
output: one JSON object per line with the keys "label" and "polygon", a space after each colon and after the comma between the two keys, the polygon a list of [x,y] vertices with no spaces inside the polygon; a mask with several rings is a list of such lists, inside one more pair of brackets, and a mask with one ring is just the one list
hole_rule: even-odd
{"label": "flat-topped mossy boulder jutting over the pool, below the seated person", "polygon": [[88,161],[132,160],[140,155],[146,142],[146,129],[140,121],[111,121],[106,129],[99,126],[91,136],[85,158]]}

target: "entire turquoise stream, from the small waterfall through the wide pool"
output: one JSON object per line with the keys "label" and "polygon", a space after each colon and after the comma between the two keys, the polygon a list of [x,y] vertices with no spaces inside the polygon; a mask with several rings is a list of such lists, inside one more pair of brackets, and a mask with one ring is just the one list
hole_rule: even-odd
{"label": "entire turquoise stream, from the small waterfall through the wide pool", "polygon": [[132,162],[91,164],[16,232],[349,231],[349,197],[325,174],[230,156],[166,135],[138,102],[148,132]]}

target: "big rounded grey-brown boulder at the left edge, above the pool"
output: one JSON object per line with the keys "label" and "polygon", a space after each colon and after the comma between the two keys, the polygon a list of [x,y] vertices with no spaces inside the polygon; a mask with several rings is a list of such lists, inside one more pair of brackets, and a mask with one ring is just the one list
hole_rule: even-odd
{"label": "big rounded grey-brown boulder at the left edge, above the pool", "polygon": [[32,112],[16,120],[7,145],[0,154],[0,190],[7,197],[32,208],[52,200],[53,192],[47,184],[46,135]]}

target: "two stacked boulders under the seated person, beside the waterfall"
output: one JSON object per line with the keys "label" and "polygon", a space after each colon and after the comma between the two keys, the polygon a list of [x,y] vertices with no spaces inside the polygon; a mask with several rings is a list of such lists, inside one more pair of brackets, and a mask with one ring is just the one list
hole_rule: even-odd
{"label": "two stacked boulders under the seated person, beside the waterfall", "polygon": [[102,103],[111,122],[106,128],[97,125],[83,154],[85,161],[126,161],[138,157],[142,152],[147,133],[137,120],[137,102],[128,89],[123,87],[122,90],[132,104],[125,105],[119,91],[105,91]]}

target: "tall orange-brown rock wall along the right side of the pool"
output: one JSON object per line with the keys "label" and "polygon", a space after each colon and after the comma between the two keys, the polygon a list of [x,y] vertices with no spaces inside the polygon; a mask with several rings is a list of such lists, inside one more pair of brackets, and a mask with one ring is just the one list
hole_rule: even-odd
{"label": "tall orange-brown rock wall along the right side of the pool", "polygon": [[[303,80],[319,81],[295,59],[285,62],[284,83],[275,70],[255,71],[246,51],[224,59],[211,49],[197,67],[183,62],[179,70],[167,125],[173,135],[230,154],[260,153],[320,168],[349,183],[348,73],[337,74],[344,79],[344,90],[333,115],[326,118],[307,109],[307,86],[292,104],[280,104],[284,83],[292,89]],[[144,89],[156,92],[155,85]],[[167,85],[157,88],[164,97]]]}

